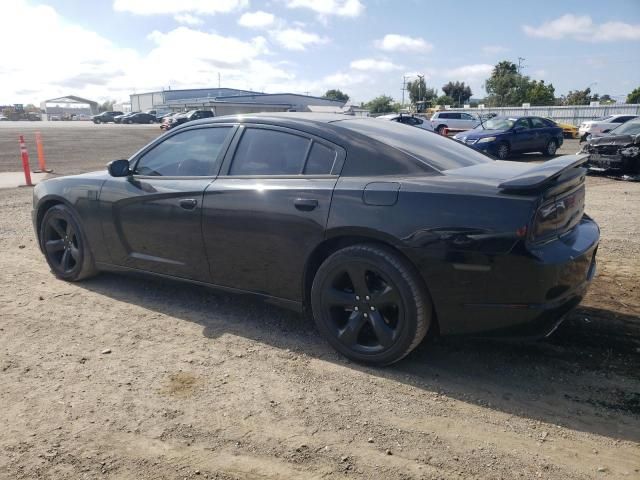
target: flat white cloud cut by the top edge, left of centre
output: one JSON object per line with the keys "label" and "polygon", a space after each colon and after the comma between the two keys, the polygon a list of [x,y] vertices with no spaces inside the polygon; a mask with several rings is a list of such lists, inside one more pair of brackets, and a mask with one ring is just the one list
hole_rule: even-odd
{"label": "flat white cloud cut by the top edge, left of centre", "polygon": [[229,13],[249,6],[249,0],[114,0],[113,9],[136,15],[175,15],[191,12],[199,15]]}

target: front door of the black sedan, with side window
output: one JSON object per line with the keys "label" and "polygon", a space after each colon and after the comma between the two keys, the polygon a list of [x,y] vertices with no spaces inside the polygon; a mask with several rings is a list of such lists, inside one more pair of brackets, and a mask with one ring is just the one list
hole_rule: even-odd
{"label": "front door of the black sedan, with side window", "polygon": [[132,160],[132,175],[107,180],[100,203],[114,264],[210,280],[202,195],[217,175],[235,128],[204,126],[168,134]]}

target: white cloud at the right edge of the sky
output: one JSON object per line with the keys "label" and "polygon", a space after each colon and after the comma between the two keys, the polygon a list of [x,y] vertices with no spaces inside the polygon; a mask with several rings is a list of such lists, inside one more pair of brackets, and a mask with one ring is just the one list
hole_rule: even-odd
{"label": "white cloud at the right edge of the sky", "polygon": [[640,40],[640,24],[605,22],[596,24],[589,15],[566,14],[555,20],[544,22],[539,27],[524,25],[530,37],[560,40],[572,38],[583,42],[613,42]]}

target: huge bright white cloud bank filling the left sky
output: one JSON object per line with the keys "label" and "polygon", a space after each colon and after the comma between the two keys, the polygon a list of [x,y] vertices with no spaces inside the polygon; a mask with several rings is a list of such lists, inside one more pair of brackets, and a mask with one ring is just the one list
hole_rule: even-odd
{"label": "huge bright white cloud bank filling the left sky", "polygon": [[0,2],[0,18],[13,20],[3,30],[11,38],[24,35],[26,24],[50,35],[46,42],[0,49],[0,104],[62,95],[123,101],[135,91],[216,85],[218,73],[224,85],[240,89],[297,81],[291,66],[265,60],[262,36],[244,41],[180,26],[149,34],[152,48],[141,54],[69,22],[49,6]]}

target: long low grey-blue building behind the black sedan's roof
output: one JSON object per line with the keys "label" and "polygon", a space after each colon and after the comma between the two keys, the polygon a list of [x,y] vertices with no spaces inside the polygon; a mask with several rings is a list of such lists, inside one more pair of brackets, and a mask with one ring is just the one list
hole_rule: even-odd
{"label": "long low grey-blue building behind the black sedan's roof", "polygon": [[195,88],[135,93],[130,96],[134,112],[210,109],[216,116],[257,112],[308,112],[310,106],[340,108],[344,102],[296,93],[261,93],[234,88]]}

